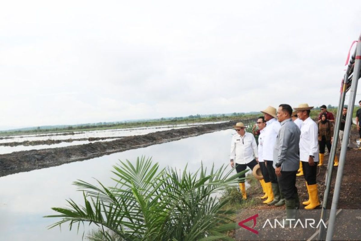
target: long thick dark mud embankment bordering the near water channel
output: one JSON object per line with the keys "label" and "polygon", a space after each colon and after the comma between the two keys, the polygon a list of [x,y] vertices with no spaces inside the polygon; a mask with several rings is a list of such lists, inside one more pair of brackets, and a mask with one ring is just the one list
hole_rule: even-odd
{"label": "long thick dark mud embankment bordering the near water channel", "polygon": [[216,130],[226,130],[235,125],[235,123],[235,121],[230,121],[220,124],[165,130],[146,135],[135,135],[114,141],[3,154],[0,155],[0,177],[18,172],[27,172],[35,169],[96,158],[115,152],[176,141],[186,137],[214,132]]}

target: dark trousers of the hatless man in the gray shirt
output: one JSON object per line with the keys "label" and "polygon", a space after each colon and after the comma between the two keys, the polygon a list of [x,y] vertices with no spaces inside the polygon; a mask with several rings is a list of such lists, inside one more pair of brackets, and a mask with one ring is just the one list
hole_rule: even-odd
{"label": "dark trousers of the hatless man in the gray shirt", "polygon": [[279,188],[283,194],[284,199],[296,199],[297,197],[296,173],[297,171],[281,171],[281,176],[278,177]]}

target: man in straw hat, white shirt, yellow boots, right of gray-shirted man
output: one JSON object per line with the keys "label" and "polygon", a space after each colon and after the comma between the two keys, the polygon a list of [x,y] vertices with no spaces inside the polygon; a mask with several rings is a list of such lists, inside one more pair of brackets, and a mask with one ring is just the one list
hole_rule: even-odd
{"label": "man in straw hat, white shirt, yellow boots, right of gray-shirted man", "polygon": [[317,164],[318,164],[318,127],[310,118],[310,110],[313,106],[308,104],[300,104],[297,111],[298,117],[303,121],[300,137],[300,160],[302,162],[304,176],[306,180],[306,188],[309,194],[309,200],[303,202],[305,209],[314,209],[319,206],[317,194]]}

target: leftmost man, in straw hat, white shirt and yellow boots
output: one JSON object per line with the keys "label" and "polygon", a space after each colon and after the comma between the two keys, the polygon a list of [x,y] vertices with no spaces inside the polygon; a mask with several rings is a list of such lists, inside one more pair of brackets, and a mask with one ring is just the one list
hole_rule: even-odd
{"label": "leftmost man, in straw hat, white shirt and yellow boots", "polygon": [[[244,171],[247,167],[253,170],[253,167],[257,165],[256,158],[258,158],[256,139],[251,133],[245,132],[242,122],[238,122],[233,128],[237,134],[233,135],[231,141],[231,167],[236,165],[237,173]],[[244,181],[245,174],[240,176],[239,189],[243,199],[247,199]]]}

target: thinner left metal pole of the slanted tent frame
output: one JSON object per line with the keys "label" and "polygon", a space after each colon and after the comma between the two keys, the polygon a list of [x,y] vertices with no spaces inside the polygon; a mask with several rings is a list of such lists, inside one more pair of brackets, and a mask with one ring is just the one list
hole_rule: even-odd
{"label": "thinner left metal pole of the slanted tent frame", "polygon": [[[339,128],[340,128],[340,122],[342,117],[342,109],[345,102],[345,96],[346,96],[346,82],[348,79],[348,69],[345,73],[344,79],[342,81],[342,89],[340,93],[340,100],[339,100],[339,106],[337,109],[337,115],[336,115],[336,124],[335,124],[335,131],[333,136],[333,143],[330,150],[330,156],[329,156],[329,162],[327,164],[327,175],[326,175],[326,188],[325,193],[323,194],[323,202],[322,202],[322,210],[321,210],[321,219],[325,220],[326,215],[326,208],[327,208],[327,201],[330,194],[330,187],[331,187],[331,178],[332,178],[332,169],[333,169],[333,160],[336,155],[336,147],[338,142],[338,135],[339,135]],[[319,226],[319,233],[318,233],[318,240],[323,240],[325,236],[325,227],[323,225]]]}

